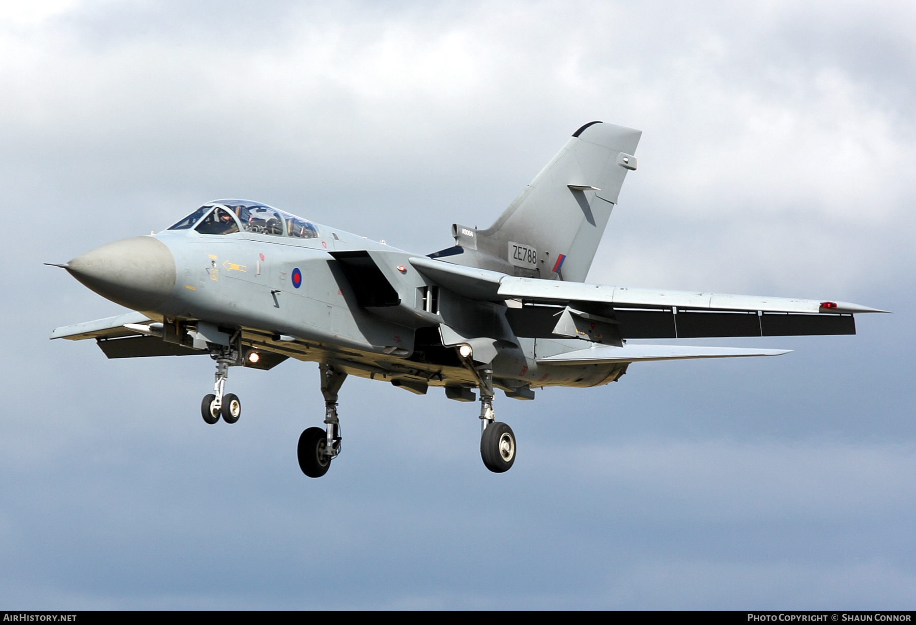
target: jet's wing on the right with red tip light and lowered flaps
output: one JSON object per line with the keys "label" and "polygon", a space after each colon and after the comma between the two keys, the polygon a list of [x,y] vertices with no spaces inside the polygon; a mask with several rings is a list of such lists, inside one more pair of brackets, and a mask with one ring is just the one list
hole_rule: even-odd
{"label": "jet's wing on the right with red tip light and lowered flaps", "polygon": [[410,264],[464,297],[521,302],[507,310],[507,319],[518,336],[536,338],[556,336],[561,315],[570,314],[580,322],[614,324],[605,334],[619,345],[626,338],[856,334],[853,314],[886,312],[850,302],[519,278],[432,258],[410,258]]}

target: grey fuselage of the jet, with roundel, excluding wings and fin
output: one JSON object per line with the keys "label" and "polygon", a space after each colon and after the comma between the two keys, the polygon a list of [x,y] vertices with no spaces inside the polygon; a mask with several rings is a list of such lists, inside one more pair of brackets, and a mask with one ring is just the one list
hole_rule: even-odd
{"label": "grey fuselage of the jet, with roundel, excluding wings and fin", "polygon": [[[244,227],[226,234],[207,234],[201,227],[169,229],[97,248],[75,258],[68,269],[104,297],[179,328],[177,334],[181,324],[214,323],[227,333],[240,331],[245,345],[330,362],[351,375],[403,382],[405,388],[411,383],[414,388],[476,386],[456,350],[442,346],[440,323],[460,328],[488,321],[488,334],[502,344],[493,371],[503,389],[595,386],[613,381],[626,368],[539,365],[538,358],[582,349],[583,343],[515,336],[506,322],[505,302],[468,300],[440,287],[430,302],[433,285],[409,263],[420,255],[300,221],[311,228],[309,236],[289,236],[289,220],[279,234]],[[333,256],[365,250],[384,259],[381,269],[398,292],[397,305],[360,305]],[[104,258],[93,260],[93,254]],[[167,257],[174,263],[170,285],[161,280],[171,275]],[[107,269],[99,269],[106,258],[112,258]],[[99,280],[102,273],[104,280]]]}

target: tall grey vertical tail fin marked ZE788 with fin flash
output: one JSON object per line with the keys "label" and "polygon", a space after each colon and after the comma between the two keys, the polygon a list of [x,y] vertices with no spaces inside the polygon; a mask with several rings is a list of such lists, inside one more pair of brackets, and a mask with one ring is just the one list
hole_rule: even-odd
{"label": "tall grey vertical tail fin marked ZE788 with fin flash", "polygon": [[641,135],[602,122],[582,126],[494,225],[455,224],[456,247],[431,256],[517,276],[584,281],[627,170],[636,169]]}

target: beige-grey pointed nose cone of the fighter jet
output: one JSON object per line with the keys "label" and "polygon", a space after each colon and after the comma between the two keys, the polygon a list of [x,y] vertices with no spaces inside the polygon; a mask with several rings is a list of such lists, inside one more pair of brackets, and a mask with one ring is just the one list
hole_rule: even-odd
{"label": "beige-grey pointed nose cone of the fighter jet", "polygon": [[66,269],[102,297],[136,311],[154,310],[175,287],[175,258],[152,236],[96,247],[73,258]]}

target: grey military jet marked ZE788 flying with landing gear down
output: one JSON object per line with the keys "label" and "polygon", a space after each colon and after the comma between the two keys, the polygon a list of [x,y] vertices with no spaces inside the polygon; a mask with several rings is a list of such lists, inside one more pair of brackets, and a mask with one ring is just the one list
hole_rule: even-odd
{"label": "grey military jet marked ZE788 flying with landing gear down", "polygon": [[496,473],[516,458],[495,419],[496,389],[533,400],[552,386],[615,382],[631,363],[778,356],[787,350],[627,343],[628,339],[856,334],[853,303],[585,283],[641,131],[579,128],[485,230],[452,225],[454,246],[420,255],[312,223],[264,203],[218,200],[150,236],[60,264],[133,313],[60,327],[109,358],[208,355],[203,421],[237,422],[230,367],[317,362],[324,428],[300,436],[300,468],[323,476],[341,452],[337,398],[347,376],[474,401],[480,454]]}

